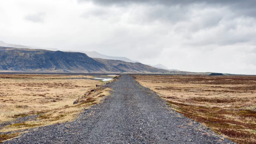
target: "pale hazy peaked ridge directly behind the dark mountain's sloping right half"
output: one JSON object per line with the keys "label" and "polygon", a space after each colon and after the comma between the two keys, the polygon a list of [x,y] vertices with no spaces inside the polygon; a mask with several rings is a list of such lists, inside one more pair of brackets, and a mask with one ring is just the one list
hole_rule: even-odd
{"label": "pale hazy peaked ridge directly behind the dark mountain's sloping right half", "polygon": [[95,51],[92,51],[92,52],[87,52],[87,51],[73,51],[73,50],[65,50],[66,52],[82,52],[82,53],[85,53],[87,54],[89,57],[91,58],[100,58],[100,59],[108,59],[108,60],[123,60],[123,61],[126,61],[126,62],[139,62],[139,61],[136,61],[136,60],[130,60],[126,57],[113,57],[113,56],[107,56],[107,55],[104,55],[104,54],[100,54],[98,52],[95,52]]}

